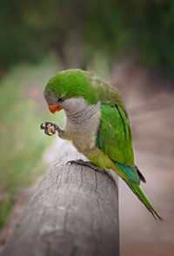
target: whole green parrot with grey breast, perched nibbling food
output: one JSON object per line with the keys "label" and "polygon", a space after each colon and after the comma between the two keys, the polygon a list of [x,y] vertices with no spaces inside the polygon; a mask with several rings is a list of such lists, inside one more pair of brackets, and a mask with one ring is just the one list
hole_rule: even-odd
{"label": "whole green parrot with grey breast, perched nibbling food", "polygon": [[90,160],[70,162],[113,170],[151,214],[162,220],[139,187],[145,179],[134,163],[128,113],[116,87],[88,71],[72,69],[50,78],[44,98],[52,113],[64,109],[66,124],[64,131],[51,122],[42,124],[41,129],[48,135],[57,131]]}

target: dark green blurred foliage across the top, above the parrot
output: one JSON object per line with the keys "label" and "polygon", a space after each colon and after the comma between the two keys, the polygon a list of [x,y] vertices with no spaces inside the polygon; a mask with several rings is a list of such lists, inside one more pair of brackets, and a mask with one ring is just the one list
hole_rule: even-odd
{"label": "dark green blurred foliage across the top, above the parrot", "polygon": [[50,50],[68,68],[70,45],[82,68],[103,51],[110,61],[133,54],[167,73],[174,69],[172,0],[1,1],[0,26],[2,71]]}

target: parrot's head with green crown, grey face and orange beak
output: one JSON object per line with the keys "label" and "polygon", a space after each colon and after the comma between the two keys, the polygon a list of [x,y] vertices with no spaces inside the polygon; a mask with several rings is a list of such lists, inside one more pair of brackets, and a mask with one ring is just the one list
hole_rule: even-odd
{"label": "parrot's head with green crown, grey face and orange beak", "polygon": [[[44,98],[52,113],[57,111],[80,111],[87,102],[96,103],[90,86],[92,75],[88,71],[60,71],[45,86]],[[93,98],[92,98],[93,95]]]}

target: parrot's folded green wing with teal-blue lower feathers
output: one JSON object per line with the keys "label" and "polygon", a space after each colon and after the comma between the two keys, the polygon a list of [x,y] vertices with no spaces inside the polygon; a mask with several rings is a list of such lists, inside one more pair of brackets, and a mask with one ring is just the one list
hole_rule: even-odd
{"label": "parrot's folded green wing with teal-blue lower feathers", "polygon": [[121,106],[101,104],[101,121],[96,145],[131,181],[139,184],[131,141],[129,119]]}

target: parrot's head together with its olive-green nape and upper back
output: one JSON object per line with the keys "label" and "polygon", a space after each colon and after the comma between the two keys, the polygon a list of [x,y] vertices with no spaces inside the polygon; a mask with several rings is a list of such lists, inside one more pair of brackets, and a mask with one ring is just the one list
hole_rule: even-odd
{"label": "parrot's head together with its olive-green nape and upper back", "polygon": [[52,113],[64,109],[66,112],[83,110],[88,104],[98,102],[119,104],[127,111],[117,88],[79,69],[60,71],[45,86],[44,98]]}

